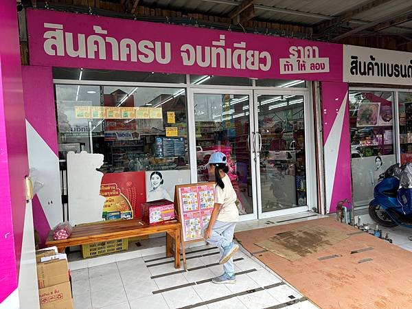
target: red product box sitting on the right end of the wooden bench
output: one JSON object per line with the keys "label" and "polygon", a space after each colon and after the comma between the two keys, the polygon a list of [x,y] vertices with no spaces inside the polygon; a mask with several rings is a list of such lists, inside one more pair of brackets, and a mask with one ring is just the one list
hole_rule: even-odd
{"label": "red product box sitting on the right end of the wooden bench", "polygon": [[174,203],[168,200],[143,203],[141,204],[141,216],[149,225],[173,220]]}

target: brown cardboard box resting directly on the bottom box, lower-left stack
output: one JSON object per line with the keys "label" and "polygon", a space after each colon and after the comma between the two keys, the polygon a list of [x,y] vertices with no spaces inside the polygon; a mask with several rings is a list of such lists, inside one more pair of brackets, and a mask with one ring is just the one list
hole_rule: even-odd
{"label": "brown cardboard box resting directly on the bottom box, lower-left stack", "polygon": [[67,260],[51,260],[37,264],[38,288],[47,288],[69,281]]}

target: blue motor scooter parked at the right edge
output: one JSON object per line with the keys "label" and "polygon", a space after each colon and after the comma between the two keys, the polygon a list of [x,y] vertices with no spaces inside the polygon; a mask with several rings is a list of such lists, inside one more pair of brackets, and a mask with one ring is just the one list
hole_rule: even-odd
{"label": "blue motor scooter parked at the right edge", "polygon": [[369,216],[383,227],[412,228],[412,163],[391,165],[380,175]]}

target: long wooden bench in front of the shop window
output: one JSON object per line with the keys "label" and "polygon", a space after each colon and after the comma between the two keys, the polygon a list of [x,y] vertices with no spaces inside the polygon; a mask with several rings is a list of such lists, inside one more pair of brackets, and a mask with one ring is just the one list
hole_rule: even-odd
{"label": "long wooden bench in front of the shop window", "polygon": [[[141,220],[133,219],[78,225],[73,227],[73,233],[65,240],[53,240],[52,231],[50,231],[49,236],[47,236],[46,246],[56,246],[59,252],[63,252],[67,247],[80,244],[148,236],[164,232],[166,233],[166,256],[174,256],[174,267],[180,268],[181,224],[176,221],[148,225]],[[172,246],[172,242],[174,242],[174,246]]]}

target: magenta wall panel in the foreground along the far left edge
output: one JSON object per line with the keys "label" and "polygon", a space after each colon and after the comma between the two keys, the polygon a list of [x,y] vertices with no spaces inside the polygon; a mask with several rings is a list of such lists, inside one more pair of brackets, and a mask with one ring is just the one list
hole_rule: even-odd
{"label": "magenta wall panel in the foreground along the far left edge", "polygon": [[1,302],[17,286],[28,174],[16,1],[1,2],[0,37]]}

